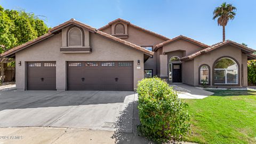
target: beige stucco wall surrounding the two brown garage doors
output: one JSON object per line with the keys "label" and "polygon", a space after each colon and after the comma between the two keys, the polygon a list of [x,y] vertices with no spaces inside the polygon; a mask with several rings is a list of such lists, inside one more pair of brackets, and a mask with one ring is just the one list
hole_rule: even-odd
{"label": "beige stucco wall surrounding the two brown garage doors", "polygon": [[134,88],[143,78],[143,63],[137,69],[137,61],[143,61],[143,53],[131,47],[111,41],[98,34],[90,33],[92,53],[61,53],[62,33],[16,53],[17,89],[25,90],[26,61],[56,61],[56,89],[66,89],[66,61],[133,61]]}

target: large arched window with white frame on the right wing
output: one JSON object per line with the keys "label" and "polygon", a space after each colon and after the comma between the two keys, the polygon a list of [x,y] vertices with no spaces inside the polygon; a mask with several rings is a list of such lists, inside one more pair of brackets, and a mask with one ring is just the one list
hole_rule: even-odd
{"label": "large arched window with white frame on the right wing", "polygon": [[214,84],[238,84],[238,65],[231,58],[221,58],[214,62]]}

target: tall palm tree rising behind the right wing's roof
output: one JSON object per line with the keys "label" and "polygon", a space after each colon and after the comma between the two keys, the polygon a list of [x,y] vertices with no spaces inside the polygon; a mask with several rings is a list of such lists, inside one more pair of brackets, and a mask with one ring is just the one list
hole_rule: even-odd
{"label": "tall palm tree rising behind the right wing's roof", "polygon": [[222,26],[223,42],[225,41],[225,27],[229,20],[233,20],[236,15],[236,7],[231,4],[222,3],[213,11],[213,20],[218,18],[218,26]]}

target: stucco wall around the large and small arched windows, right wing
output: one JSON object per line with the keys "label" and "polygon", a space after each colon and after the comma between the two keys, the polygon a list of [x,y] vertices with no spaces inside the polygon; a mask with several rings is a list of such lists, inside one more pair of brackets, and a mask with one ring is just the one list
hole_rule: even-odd
{"label": "stucco wall around the large and small arched windows, right wing", "polygon": [[[213,74],[212,74],[212,70],[213,70],[213,63],[220,57],[224,57],[224,56],[229,56],[234,58],[235,60],[238,61],[237,65],[239,65],[239,73],[238,73],[238,77],[239,77],[239,86],[242,86],[241,80],[242,80],[242,72],[241,72],[241,67],[242,64],[244,66],[247,66],[247,57],[243,57],[242,51],[241,49],[238,49],[237,47],[231,46],[231,45],[227,45],[227,46],[223,46],[223,47],[219,47],[216,50],[213,50],[212,52],[209,53],[205,53],[202,55],[199,55],[198,57],[196,57],[195,63],[194,63],[194,85],[198,85],[198,77],[199,77],[199,66],[203,65],[203,64],[207,64],[210,66],[211,71],[210,71],[210,83],[211,86],[213,85]],[[247,68],[244,67],[244,81],[246,81],[247,79]],[[247,84],[247,82],[244,82],[244,84]]]}

